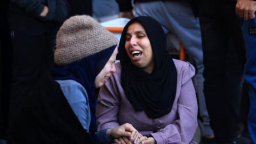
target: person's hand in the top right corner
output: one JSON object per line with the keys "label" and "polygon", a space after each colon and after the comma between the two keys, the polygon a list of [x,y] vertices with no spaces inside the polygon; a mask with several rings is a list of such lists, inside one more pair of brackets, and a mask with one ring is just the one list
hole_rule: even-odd
{"label": "person's hand in the top right corner", "polygon": [[256,2],[253,0],[237,0],[236,14],[244,20],[253,19],[255,17]]}

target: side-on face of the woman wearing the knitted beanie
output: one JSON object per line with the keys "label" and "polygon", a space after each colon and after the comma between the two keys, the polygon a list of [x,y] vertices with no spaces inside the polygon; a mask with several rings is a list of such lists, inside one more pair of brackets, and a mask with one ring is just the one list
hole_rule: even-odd
{"label": "side-on face of the woman wearing the knitted beanie", "polygon": [[106,65],[103,67],[103,69],[95,78],[94,83],[96,88],[101,87],[106,82],[106,78],[109,78],[111,74],[116,72],[116,68],[115,68],[116,55],[117,55],[117,48],[114,50],[111,57],[107,61]]}

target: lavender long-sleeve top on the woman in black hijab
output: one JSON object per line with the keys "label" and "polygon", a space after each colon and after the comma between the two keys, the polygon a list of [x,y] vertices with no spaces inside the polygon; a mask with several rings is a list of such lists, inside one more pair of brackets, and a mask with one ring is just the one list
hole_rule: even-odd
{"label": "lavender long-sleeve top on the woman in black hijab", "polygon": [[156,119],[144,111],[135,111],[121,86],[121,65],[103,85],[97,101],[98,131],[124,123],[132,124],[142,135],[151,135],[157,144],[196,143],[193,135],[197,127],[197,100],[191,77],[195,68],[188,62],[173,59],[177,69],[177,92],[169,114]]}

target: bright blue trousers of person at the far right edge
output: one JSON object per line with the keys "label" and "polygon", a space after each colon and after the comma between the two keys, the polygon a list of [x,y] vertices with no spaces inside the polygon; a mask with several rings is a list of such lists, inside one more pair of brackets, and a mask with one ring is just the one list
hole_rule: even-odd
{"label": "bright blue trousers of person at the far right edge", "polygon": [[256,28],[256,19],[243,21],[247,62],[244,69],[244,78],[249,84],[250,111],[248,115],[248,130],[253,143],[256,143],[256,35],[250,35],[249,28]]}

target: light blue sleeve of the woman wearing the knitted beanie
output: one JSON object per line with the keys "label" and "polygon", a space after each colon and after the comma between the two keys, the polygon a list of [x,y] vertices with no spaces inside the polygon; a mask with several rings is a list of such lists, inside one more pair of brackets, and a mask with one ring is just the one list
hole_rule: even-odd
{"label": "light blue sleeve of the woman wearing the knitted beanie", "polygon": [[91,113],[88,95],[84,87],[73,80],[57,80],[70,107],[86,132],[89,132]]}

